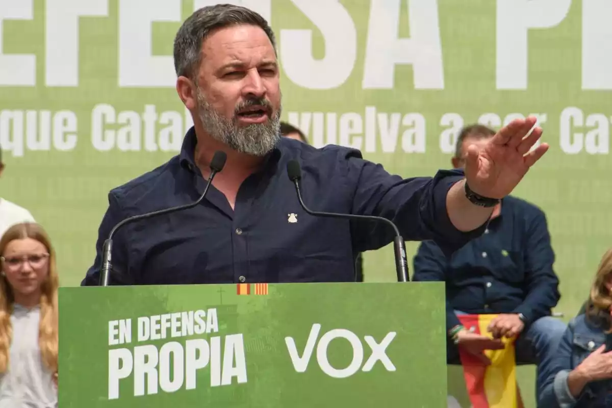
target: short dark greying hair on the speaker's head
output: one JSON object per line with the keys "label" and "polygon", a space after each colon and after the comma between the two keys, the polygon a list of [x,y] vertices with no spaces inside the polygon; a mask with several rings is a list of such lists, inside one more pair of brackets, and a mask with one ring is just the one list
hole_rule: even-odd
{"label": "short dark greying hair on the speaker's head", "polygon": [[266,32],[276,53],[274,32],[266,19],[253,10],[233,4],[202,7],[184,21],[174,38],[174,70],[177,76],[196,81],[201,62],[202,42],[213,31],[228,26],[248,24]]}

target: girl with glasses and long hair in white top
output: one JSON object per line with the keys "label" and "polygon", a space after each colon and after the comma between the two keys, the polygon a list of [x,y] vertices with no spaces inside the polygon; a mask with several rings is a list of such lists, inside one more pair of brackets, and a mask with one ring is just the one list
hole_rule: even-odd
{"label": "girl with glasses and long hair in white top", "polygon": [[10,227],[0,267],[0,408],[57,408],[59,278],[42,226]]}

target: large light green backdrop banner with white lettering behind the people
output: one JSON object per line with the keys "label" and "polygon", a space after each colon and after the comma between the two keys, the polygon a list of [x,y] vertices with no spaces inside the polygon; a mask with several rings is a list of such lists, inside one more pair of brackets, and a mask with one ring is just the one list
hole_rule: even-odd
{"label": "large light green backdrop banner with white lettering behind the people", "polygon": [[[173,38],[214,2],[3,3],[1,195],[48,228],[62,284],[94,259],[108,190],[177,153],[191,119],[174,90]],[[450,166],[461,125],[537,114],[551,149],[515,193],[547,213],[561,307],[578,310],[612,237],[611,2],[234,2],[271,21],[283,119],[316,146],[431,175]],[[392,248],[365,254],[365,276],[395,280]]]}

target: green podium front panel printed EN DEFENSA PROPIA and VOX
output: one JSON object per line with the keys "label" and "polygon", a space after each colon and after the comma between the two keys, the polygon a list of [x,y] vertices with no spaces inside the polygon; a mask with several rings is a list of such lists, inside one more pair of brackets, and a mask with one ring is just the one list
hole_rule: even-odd
{"label": "green podium front panel printed EN DEFENSA PROPIA and VOX", "polygon": [[59,406],[441,407],[443,283],[61,287]]}

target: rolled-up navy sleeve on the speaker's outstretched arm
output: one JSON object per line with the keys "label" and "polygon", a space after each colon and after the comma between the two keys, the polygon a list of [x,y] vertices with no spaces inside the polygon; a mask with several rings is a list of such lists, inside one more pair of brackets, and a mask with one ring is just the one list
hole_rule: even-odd
{"label": "rolled-up navy sleeve on the speaker's outstretched arm", "polygon": [[[354,180],[353,213],[375,215],[393,221],[407,241],[433,240],[446,256],[480,236],[485,224],[469,232],[450,221],[446,196],[453,184],[464,178],[461,170],[441,170],[434,177],[402,179],[382,165],[364,160],[357,150],[347,150],[348,177]],[[357,228],[360,251],[387,245],[394,232],[382,223]]]}

